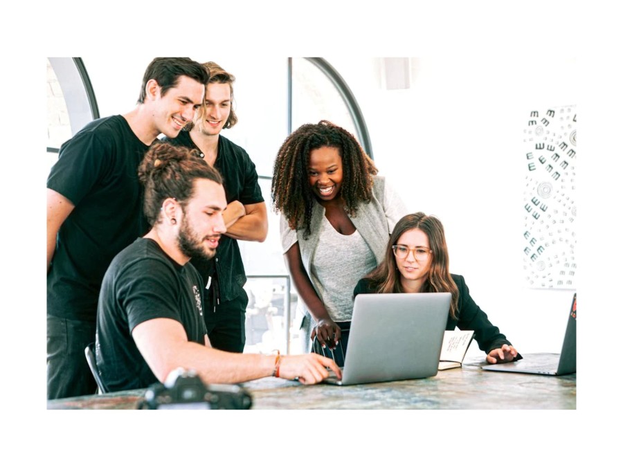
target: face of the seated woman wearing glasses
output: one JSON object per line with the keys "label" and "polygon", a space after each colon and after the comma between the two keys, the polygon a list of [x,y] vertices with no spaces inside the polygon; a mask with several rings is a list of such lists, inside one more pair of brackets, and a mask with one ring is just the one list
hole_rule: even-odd
{"label": "face of the seated woman wearing glasses", "polygon": [[422,284],[428,277],[428,273],[431,271],[433,255],[428,254],[426,259],[417,261],[415,259],[415,251],[418,248],[427,251],[431,250],[431,245],[428,243],[428,235],[419,230],[419,228],[413,228],[404,232],[396,244],[410,249],[406,258],[400,259],[397,256],[395,257],[396,266],[401,275],[401,285],[405,291],[419,292],[419,289],[422,288]]}

